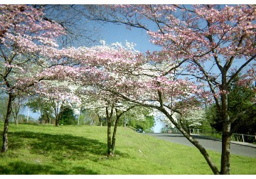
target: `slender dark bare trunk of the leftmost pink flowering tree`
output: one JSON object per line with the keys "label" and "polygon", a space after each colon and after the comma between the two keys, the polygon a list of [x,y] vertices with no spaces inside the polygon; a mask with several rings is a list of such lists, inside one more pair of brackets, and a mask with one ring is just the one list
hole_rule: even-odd
{"label": "slender dark bare trunk of the leftmost pink flowering tree", "polygon": [[7,105],[7,112],[6,112],[6,118],[4,120],[4,134],[3,134],[3,146],[1,149],[1,152],[6,152],[8,149],[8,129],[9,129],[9,120],[11,118],[11,105],[14,101],[13,94],[9,94],[9,101]]}

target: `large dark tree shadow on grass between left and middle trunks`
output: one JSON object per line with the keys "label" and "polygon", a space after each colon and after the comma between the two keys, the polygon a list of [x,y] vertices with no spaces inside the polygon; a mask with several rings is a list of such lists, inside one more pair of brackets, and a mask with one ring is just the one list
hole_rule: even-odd
{"label": "large dark tree shadow on grass between left and middle trunks", "polygon": [[[82,159],[88,154],[105,155],[107,145],[95,139],[87,139],[81,136],[69,134],[43,134],[31,131],[9,133],[12,136],[9,148],[15,150],[22,146],[28,147],[31,153],[52,155],[55,159],[63,158]],[[29,139],[29,140],[28,140]],[[26,140],[26,143],[23,141]]]}

